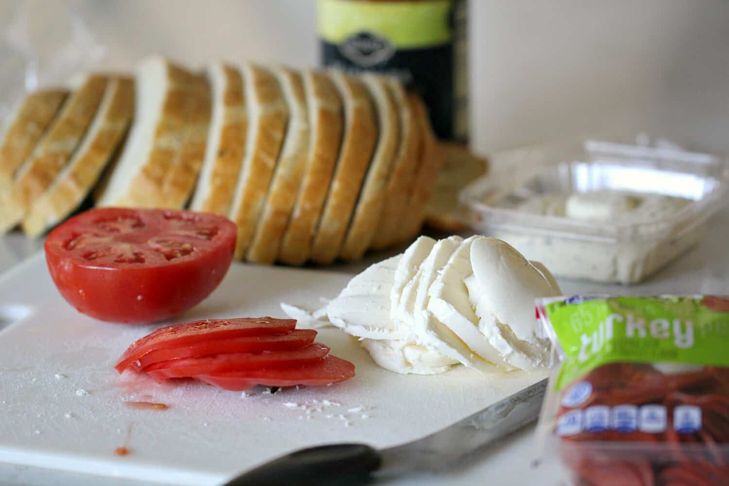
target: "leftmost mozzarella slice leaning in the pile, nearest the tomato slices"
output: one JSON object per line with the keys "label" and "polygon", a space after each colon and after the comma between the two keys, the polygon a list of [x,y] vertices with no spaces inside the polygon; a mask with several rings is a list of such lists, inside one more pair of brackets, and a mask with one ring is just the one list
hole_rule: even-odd
{"label": "leftmost mozzarella slice leaning in the pile, nearest the tomato slices", "polygon": [[352,278],[327,305],[329,321],[356,337],[405,338],[405,332],[390,319],[390,293],[400,258],[397,255],[375,263]]}

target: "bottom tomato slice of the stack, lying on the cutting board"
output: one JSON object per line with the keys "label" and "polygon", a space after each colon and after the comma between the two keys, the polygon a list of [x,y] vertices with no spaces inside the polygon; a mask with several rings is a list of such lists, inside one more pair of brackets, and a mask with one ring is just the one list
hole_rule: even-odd
{"label": "bottom tomato slice of the stack, lying on the cutting board", "polygon": [[329,385],[354,376],[354,364],[336,356],[327,356],[305,367],[246,369],[239,372],[198,375],[195,380],[225,390],[241,391],[255,385],[294,386]]}

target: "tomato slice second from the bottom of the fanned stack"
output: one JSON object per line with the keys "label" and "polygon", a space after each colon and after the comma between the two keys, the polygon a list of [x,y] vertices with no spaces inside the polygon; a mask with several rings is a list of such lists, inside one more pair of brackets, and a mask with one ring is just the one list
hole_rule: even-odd
{"label": "tomato slice second from the bottom of the fanned stack", "polygon": [[182,358],[155,363],[144,370],[157,381],[170,378],[194,377],[216,373],[237,372],[243,369],[290,368],[316,363],[327,356],[329,347],[315,342],[291,351],[265,351],[263,353],[227,353]]}

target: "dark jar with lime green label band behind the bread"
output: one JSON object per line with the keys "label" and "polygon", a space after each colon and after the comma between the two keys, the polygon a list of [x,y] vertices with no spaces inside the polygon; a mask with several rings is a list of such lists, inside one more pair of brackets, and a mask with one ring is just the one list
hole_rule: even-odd
{"label": "dark jar with lime green label band behind the bread", "polygon": [[467,141],[466,0],[319,0],[318,19],[323,66],[397,77],[440,138]]}

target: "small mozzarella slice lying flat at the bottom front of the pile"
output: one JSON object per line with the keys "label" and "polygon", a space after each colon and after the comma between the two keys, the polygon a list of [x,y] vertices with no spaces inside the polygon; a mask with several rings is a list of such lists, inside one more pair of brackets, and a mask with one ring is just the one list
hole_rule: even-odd
{"label": "small mozzarella slice lying flat at the bottom front of the pile", "polygon": [[392,372],[407,375],[438,375],[457,361],[445,358],[424,346],[402,340],[362,340],[362,346],[375,363]]}

